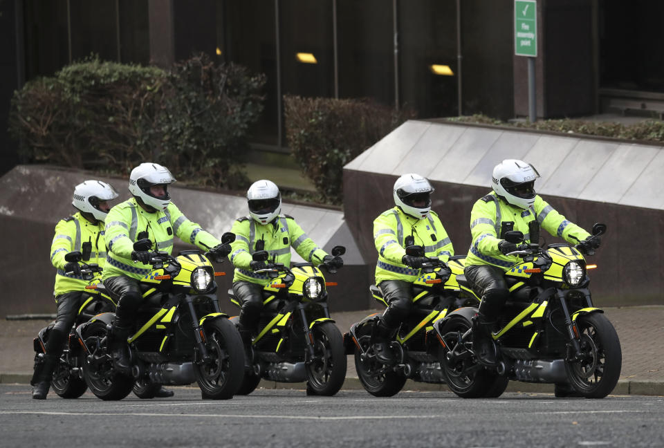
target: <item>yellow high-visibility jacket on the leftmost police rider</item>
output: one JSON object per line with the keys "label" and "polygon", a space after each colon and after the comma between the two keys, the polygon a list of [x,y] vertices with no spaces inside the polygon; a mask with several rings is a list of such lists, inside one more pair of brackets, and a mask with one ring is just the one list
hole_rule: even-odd
{"label": "yellow high-visibility jacket on the leftmost police rider", "polygon": [[80,275],[67,275],[64,271],[64,256],[68,252],[82,252],[83,243],[91,243],[90,259],[85,263],[97,263],[104,267],[106,261],[106,243],[104,242],[104,223],[98,221],[93,224],[84,218],[80,212],[60,220],[55,225],[55,236],[50,245],[50,262],[57,269],[55,274],[55,290],[53,295],[59,296],[65,292],[82,291],[88,284]]}

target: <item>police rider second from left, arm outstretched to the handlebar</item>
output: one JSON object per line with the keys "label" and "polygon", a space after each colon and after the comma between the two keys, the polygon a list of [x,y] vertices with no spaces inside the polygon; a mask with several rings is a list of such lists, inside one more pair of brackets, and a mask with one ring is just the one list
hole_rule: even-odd
{"label": "police rider second from left, arm outstretched to the handlebar", "polygon": [[[127,337],[136,320],[142,301],[139,280],[151,271],[151,250],[136,252],[133,243],[147,238],[154,251],[171,253],[174,236],[192,243],[202,250],[226,256],[230,247],[193,223],[171,202],[168,185],[175,182],[165,167],[156,163],[142,163],[131,170],[129,192],[132,198],[113,207],[106,223],[106,243],[109,248],[102,276],[104,286],[119,297],[113,322],[111,353],[113,362],[122,373],[129,374],[131,362],[127,351]],[[211,248],[211,249],[210,249]]]}

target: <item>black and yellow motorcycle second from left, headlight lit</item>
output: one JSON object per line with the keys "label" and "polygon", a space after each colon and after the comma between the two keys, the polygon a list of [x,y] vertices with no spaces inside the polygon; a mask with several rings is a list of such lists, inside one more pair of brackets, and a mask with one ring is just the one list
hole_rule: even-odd
{"label": "black and yellow motorcycle second from left, headlight lit", "polygon": [[[234,241],[234,234],[224,234],[221,241]],[[151,245],[149,239],[141,239],[133,249],[149,250]],[[156,393],[161,384],[195,381],[208,398],[233,397],[242,381],[244,354],[237,329],[219,308],[214,277],[224,273],[214,272],[206,258],[212,256],[197,250],[178,256],[154,252],[152,270],[139,283],[143,302],[135,333],[127,339],[131,376],[116,371],[111,357],[114,313],[97,315],[77,327],[85,353],[83,377],[92,393],[102,400],[121,400],[135,382]],[[102,284],[97,289],[109,294]]]}

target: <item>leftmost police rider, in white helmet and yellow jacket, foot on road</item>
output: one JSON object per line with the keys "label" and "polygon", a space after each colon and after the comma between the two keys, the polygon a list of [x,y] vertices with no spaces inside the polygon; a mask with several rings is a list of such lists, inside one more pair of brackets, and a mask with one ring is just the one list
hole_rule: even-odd
{"label": "leftmost police rider, in white helmet and yellow jacket, foot on road", "polygon": [[81,306],[81,297],[88,284],[81,276],[79,263],[68,263],[64,256],[68,252],[82,252],[86,263],[100,267],[106,261],[104,243],[104,219],[111,206],[109,200],[118,197],[111,185],[100,180],[86,180],[76,185],[71,205],[78,211],[64,218],[55,226],[55,236],[50,246],[50,262],[57,269],[55,274],[55,302],[57,314],[55,326],[48,335],[44,362],[35,366],[35,375],[30,382],[33,398],[46,399],[57,360],[62,353],[66,337]]}

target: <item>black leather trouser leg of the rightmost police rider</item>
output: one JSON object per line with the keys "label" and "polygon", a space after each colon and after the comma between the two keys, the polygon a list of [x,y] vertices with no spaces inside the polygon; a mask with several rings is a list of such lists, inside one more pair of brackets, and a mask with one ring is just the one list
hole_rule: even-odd
{"label": "black leather trouser leg of the rightmost police rider", "polygon": [[505,271],[492,265],[471,265],[463,270],[472,290],[481,297],[479,319],[483,322],[497,321],[510,291],[505,283]]}

